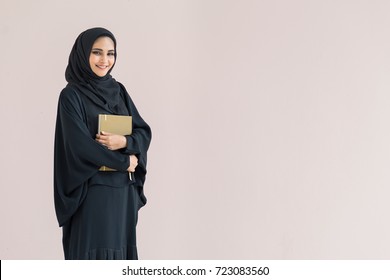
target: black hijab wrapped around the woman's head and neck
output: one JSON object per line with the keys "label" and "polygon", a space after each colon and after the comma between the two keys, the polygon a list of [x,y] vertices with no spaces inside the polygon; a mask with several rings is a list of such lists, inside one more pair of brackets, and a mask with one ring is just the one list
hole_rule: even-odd
{"label": "black hijab wrapped around the woman's head and neck", "polygon": [[120,86],[110,75],[114,65],[104,77],[96,75],[89,64],[92,46],[100,37],[109,37],[114,41],[116,61],[116,39],[107,29],[95,27],[82,32],[76,39],[69,55],[65,79],[68,85],[90,98],[96,105],[103,107],[113,114],[124,113]]}

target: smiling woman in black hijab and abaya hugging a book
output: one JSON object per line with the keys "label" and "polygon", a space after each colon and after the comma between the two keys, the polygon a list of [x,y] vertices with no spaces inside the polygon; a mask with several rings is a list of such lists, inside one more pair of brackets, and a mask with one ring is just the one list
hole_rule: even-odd
{"label": "smiling woman in black hijab and abaya hugging a book", "polygon": [[[146,203],[151,130],[110,75],[116,57],[115,37],[104,28],[81,33],[69,56],[54,147],[54,198],[65,259],[138,258],[136,224]],[[98,114],[131,115],[132,134],[97,134]],[[117,171],[99,171],[101,166]]]}

